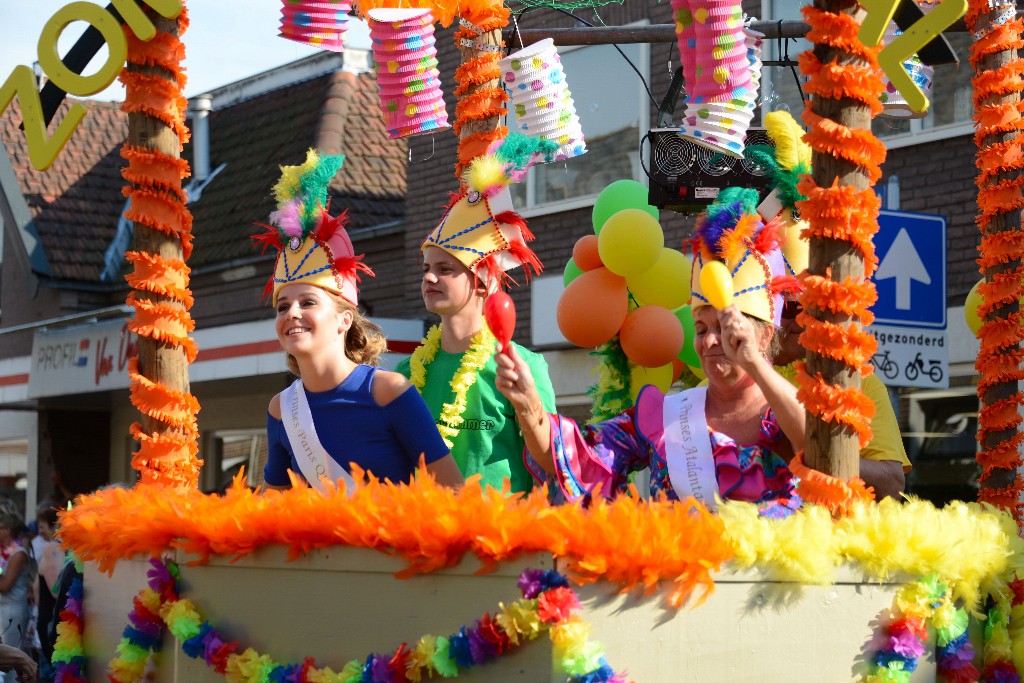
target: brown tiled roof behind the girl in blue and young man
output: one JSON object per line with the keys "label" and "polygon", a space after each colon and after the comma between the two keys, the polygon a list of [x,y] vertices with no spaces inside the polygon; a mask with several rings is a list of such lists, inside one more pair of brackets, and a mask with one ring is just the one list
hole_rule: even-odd
{"label": "brown tiled roof behind the girl in blue and young man", "polygon": [[274,209],[280,167],[301,164],[309,147],[345,155],[331,210],[349,210],[349,229],[404,215],[407,147],[388,140],[370,74],[337,71],[215,110],[209,128],[210,167],[227,166],[191,205],[194,267],[258,253],[249,236]]}

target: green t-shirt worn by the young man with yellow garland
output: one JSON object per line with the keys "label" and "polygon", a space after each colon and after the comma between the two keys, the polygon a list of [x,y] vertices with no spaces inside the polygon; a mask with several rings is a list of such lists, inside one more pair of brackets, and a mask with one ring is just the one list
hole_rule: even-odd
{"label": "green t-shirt worn by the young man with yellow garland", "polygon": [[[534,374],[544,410],[554,413],[555,390],[548,376],[548,362],[540,353],[518,344],[516,351]],[[423,399],[435,421],[439,419],[444,403],[455,397],[451,383],[462,365],[462,353],[445,353],[438,349],[433,362],[427,366]],[[510,479],[513,492],[528,492],[534,487],[534,477],[522,463],[525,444],[512,403],[495,387],[497,369],[492,357],[466,392],[466,410],[462,414],[464,422],[452,446],[452,456],[463,476],[479,473],[484,484],[496,488],[501,488],[505,479]],[[399,362],[395,370],[409,377],[409,358]]]}

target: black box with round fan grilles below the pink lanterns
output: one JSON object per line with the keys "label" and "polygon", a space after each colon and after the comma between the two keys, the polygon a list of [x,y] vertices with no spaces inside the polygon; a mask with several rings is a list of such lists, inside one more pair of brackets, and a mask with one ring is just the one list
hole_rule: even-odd
{"label": "black box with round fan grilles below the pink lanterns", "polygon": [[[768,169],[750,159],[736,159],[682,137],[676,128],[655,128],[650,142],[650,196],[659,209],[697,213],[725,187],[753,187],[763,200],[771,191]],[[774,146],[764,128],[746,131],[745,145]]]}

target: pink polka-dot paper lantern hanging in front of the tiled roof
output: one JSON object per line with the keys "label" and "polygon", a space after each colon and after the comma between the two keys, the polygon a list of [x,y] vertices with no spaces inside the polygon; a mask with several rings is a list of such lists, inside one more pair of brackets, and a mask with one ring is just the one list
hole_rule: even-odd
{"label": "pink polka-dot paper lantern hanging in front of the tiled roof", "polygon": [[393,140],[447,128],[430,11],[378,8],[367,16],[388,136]]}

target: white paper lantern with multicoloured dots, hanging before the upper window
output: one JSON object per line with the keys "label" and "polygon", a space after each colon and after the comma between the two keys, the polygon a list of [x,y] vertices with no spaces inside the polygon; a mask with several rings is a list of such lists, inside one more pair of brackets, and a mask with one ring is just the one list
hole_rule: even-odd
{"label": "white paper lantern with multicoloured dots, hanging before the upper window", "polygon": [[498,65],[519,131],[558,142],[551,161],[586,154],[580,117],[554,41],[546,38],[528,45]]}

